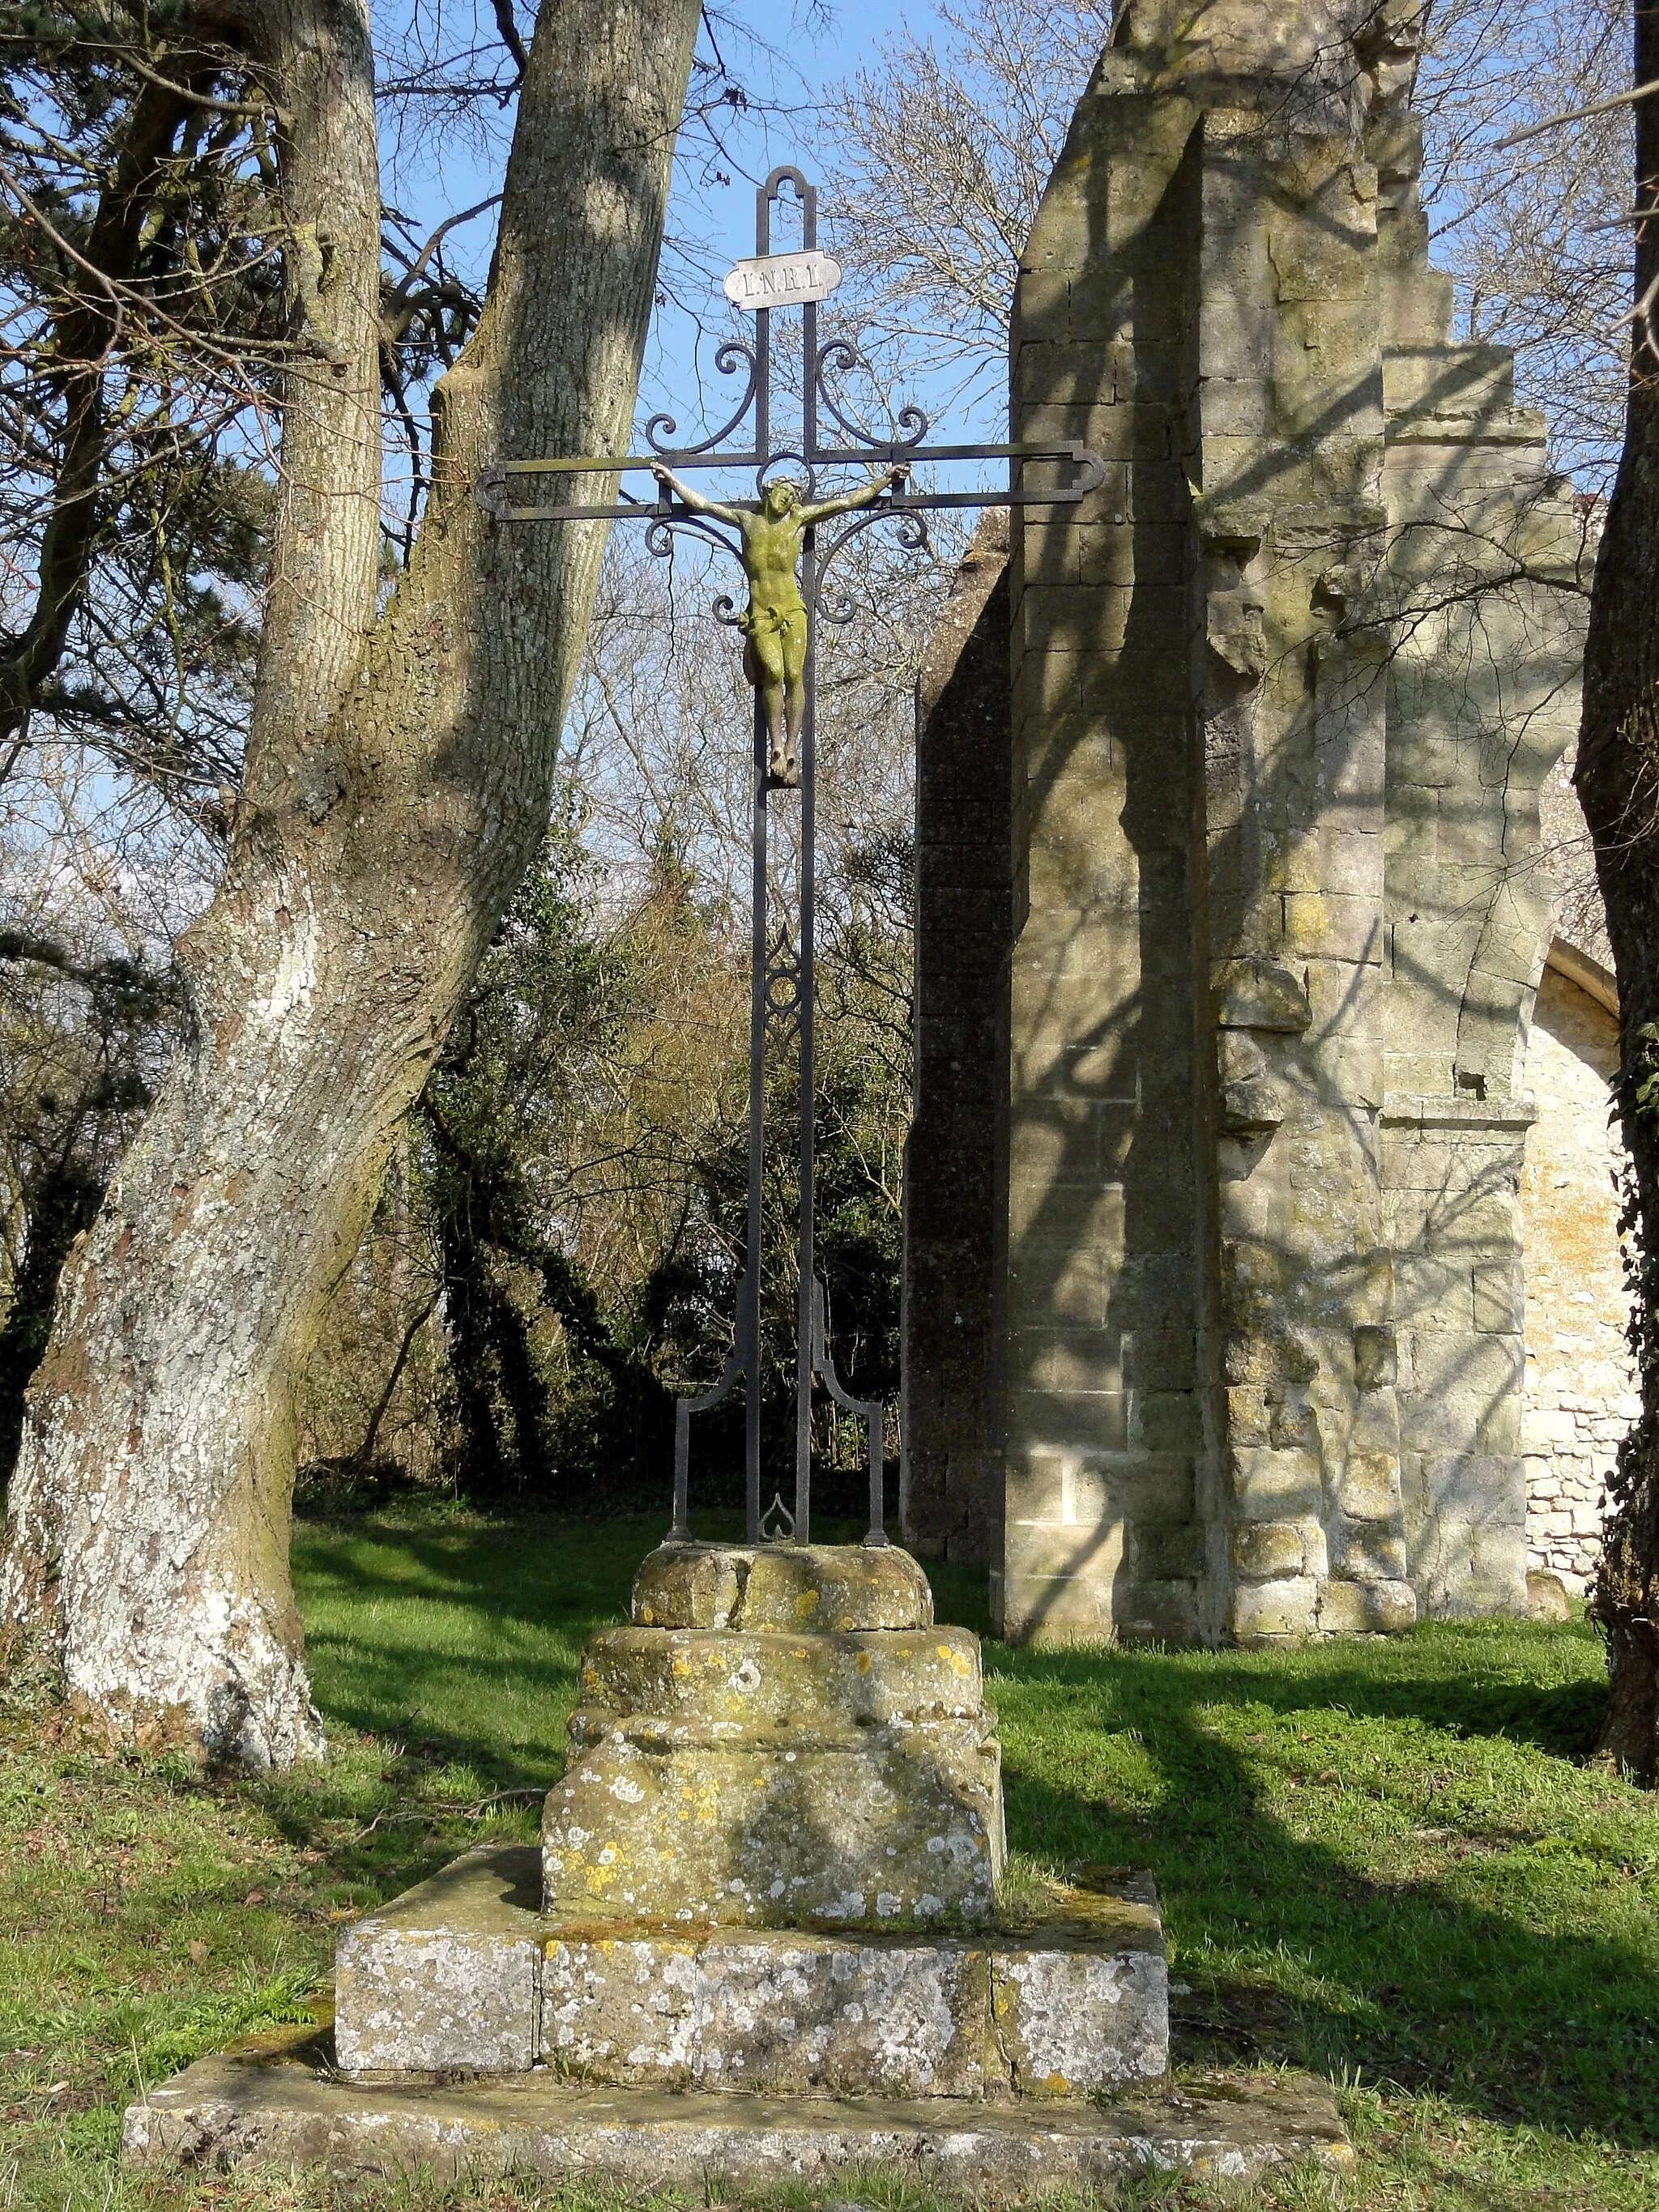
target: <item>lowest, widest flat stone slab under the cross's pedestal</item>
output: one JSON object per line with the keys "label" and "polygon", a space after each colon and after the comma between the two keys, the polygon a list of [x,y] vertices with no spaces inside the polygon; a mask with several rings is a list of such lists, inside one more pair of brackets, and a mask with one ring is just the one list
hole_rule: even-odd
{"label": "lowest, widest flat stone slab under the cross's pedestal", "polygon": [[969,2199],[1095,2188],[1144,2168],[1254,2181],[1354,2154],[1329,2090],[1287,2075],[1214,2077],[1106,2104],[832,2101],[577,2088],[546,2073],[511,2084],[367,2086],[332,2079],[325,2039],[197,2059],[128,2106],[128,2168],[228,2168],[243,2161],[338,2174],[427,2168],[478,2174],[606,2177],[633,2188],[719,2194],[732,2181],[827,2181],[900,2168]]}

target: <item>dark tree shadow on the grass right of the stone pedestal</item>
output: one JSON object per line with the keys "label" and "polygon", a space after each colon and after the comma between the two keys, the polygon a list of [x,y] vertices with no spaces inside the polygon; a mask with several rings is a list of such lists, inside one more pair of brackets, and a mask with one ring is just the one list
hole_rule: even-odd
{"label": "dark tree shadow on the grass right of the stone pedestal", "polygon": [[[1630,1876],[1595,1860],[1528,1863],[1522,1847],[1513,1911],[1475,1905],[1447,1880],[1376,1882],[1338,1847],[1296,1836],[1239,1750],[1199,1719],[1199,1708],[1225,1703],[1270,1712],[1329,1703],[1418,1719],[1429,1703],[1436,1725],[1455,1730],[1444,1712],[1453,1686],[1376,1681],[1343,1666],[1274,1677],[1259,1661],[1210,1661],[1199,1672],[1133,1650],[1053,1661],[1022,1652],[1009,1663],[1024,1686],[1073,1699],[1084,1686],[1104,1692],[1095,1725],[1133,1730],[1161,1772],[1157,1809],[1115,1805],[1042,1778],[1042,1747],[1024,1756],[1013,1730],[1006,1805],[1009,1840],[1042,1858],[1152,1869],[1177,1947],[1175,1980],[1192,1984],[1175,2006],[1179,2057],[1290,2059],[1336,2077],[1360,2068],[1502,2126],[1593,2130],[1624,2148],[1659,2148],[1652,1953],[1586,1933],[1571,1893],[1595,1885],[1606,1896]],[[1551,1690],[1540,1699],[1535,1728],[1517,1728],[1506,1708],[1500,1725],[1511,1741],[1553,1750],[1544,1739],[1573,1732],[1575,1708]],[[1451,1705],[1462,1708],[1462,1725],[1493,1719],[1480,1699],[1453,1694]],[[1480,1840],[1473,1849],[1498,1856]],[[1639,1913],[1641,1891],[1626,1896]],[[1190,1960],[1208,1947],[1243,1949],[1261,1966],[1203,1975]]]}

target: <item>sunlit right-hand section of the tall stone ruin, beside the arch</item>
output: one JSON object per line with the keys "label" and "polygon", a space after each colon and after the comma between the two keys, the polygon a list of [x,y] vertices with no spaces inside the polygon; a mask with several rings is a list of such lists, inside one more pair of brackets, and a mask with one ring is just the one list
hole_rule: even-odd
{"label": "sunlit right-hand section of the tall stone ruin, beside the arch", "polygon": [[1383,1166],[1409,1577],[1429,1615],[1522,1613],[1520,1177],[1551,940],[1540,785],[1577,726],[1584,529],[1509,354],[1451,343],[1402,115],[1385,352],[1394,637]]}

